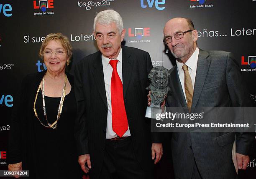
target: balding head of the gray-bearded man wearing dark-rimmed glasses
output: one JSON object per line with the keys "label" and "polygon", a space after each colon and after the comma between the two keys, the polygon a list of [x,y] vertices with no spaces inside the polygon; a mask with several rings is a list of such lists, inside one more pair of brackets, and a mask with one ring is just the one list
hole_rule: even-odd
{"label": "balding head of the gray-bearded man wearing dark-rimmed glasses", "polygon": [[[177,37],[177,34],[182,35],[182,37]],[[194,28],[193,22],[182,17],[173,18],[166,22],[164,26],[164,39],[170,38],[172,41],[167,46],[172,52],[172,55],[179,62],[187,62],[197,47],[197,31]]]}

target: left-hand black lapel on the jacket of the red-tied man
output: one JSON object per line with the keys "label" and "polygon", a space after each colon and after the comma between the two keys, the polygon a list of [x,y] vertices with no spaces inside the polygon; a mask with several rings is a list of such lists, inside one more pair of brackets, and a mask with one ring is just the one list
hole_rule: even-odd
{"label": "left-hand black lapel on the jacket of the red-tied man", "polygon": [[92,74],[93,74],[95,83],[97,85],[97,90],[100,93],[100,97],[102,98],[103,103],[105,104],[106,107],[108,107],[106,90],[105,90],[105,82],[104,82],[104,74],[103,74],[103,66],[102,66],[100,52],[98,52],[98,55],[93,67],[94,67],[94,70],[92,70]]}

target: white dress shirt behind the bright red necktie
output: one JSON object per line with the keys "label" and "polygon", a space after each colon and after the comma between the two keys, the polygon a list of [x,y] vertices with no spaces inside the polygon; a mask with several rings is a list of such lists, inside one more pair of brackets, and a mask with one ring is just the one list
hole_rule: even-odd
{"label": "white dress shirt behind the bright red necktie", "polygon": [[[123,73],[122,73],[122,49],[116,58],[119,62],[117,63],[117,71],[118,75],[123,83]],[[113,68],[109,64],[110,60],[108,57],[104,57],[101,55],[102,66],[103,66],[103,74],[104,74],[104,82],[105,82],[105,90],[107,96],[108,103],[108,117],[107,117],[107,129],[106,129],[106,139],[112,139],[117,137],[118,135],[113,131],[112,128],[112,107],[111,107],[111,77]],[[128,130],[123,134],[123,137],[131,136],[129,125]]]}

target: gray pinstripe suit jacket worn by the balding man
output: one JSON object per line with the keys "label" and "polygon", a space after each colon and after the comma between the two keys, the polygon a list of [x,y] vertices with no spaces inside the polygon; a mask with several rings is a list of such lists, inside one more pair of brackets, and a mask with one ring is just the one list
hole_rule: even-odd
{"label": "gray pinstripe suit jacket worn by the balding man", "polygon": [[[183,107],[187,103],[177,72],[177,65],[170,71],[166,105]],[[200,50],[195,79],[192,111],[197,107],[243,107],[247,101],[239,65],[230,52]],[[236,135],[236,152],[247,155],[253,134],[234,132],[174,132],[172,157],[175,178],[191,179],[194,159],[203,179],[236,178],[231,158]]]}

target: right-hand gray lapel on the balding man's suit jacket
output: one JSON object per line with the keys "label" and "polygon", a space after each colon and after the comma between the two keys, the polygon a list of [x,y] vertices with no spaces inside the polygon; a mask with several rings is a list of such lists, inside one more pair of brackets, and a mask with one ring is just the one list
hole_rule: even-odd
{"label": "right-hand gray lapel on the balding man's suit jacket", "polygon": [[206,79],[208,69],[210,66],[210,58],[207,59],[208,56],[209,56],[208,52],[200,50],[199,55],[198,55],[198,61],[197,61],[197,73],[196,73],[196,78],[195,78],[191,113],[193,112],[193,110],[195,109],[195,107],[197,105],[198,99],[202,92],[202,88],[205,84],[205,79]]}

